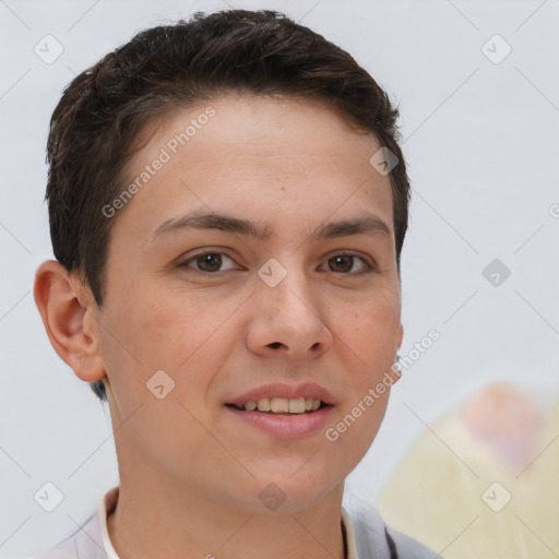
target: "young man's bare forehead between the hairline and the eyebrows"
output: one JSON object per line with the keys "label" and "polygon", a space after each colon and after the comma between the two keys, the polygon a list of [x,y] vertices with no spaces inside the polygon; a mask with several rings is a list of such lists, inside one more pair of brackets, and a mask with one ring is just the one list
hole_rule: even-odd
{"label": "young man's bare forehead between the hairline and the eyebrows", "polygon": [[127,167],[140,188],[119,222],[134,214],[153,233],[194,209],[293,226],[369,206],[392,228],[390,180],[369,163],[378,140],[320,100],[228,95],[166,115],[140,140]]}

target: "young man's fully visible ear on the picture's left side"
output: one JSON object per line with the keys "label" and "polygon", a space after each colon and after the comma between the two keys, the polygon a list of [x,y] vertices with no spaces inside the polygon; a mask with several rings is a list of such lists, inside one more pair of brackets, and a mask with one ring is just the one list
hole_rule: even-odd
{"label": "young man's fully visible ear on the picture's left side", "polygon": [[60,358],[83,381],[105,377],[98,352],[98,307],[78,272],[68,272],[59,262],[44,262],[35,275],[35,304],[48,338]]}

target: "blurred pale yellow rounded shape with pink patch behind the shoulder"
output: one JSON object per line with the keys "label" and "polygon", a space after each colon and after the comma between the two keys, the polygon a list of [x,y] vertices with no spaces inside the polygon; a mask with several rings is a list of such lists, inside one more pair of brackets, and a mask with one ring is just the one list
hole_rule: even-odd
{"label": "blurred pale yellow rounded shape with pink patch behind the shoulder", "polygon": [[424,433],[378,508],[445,559],[559,556],[559,403],[491,384]]}

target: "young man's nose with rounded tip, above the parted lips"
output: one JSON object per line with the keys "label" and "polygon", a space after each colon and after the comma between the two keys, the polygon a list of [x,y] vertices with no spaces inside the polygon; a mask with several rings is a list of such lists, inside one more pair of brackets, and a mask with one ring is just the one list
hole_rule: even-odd
{"label": "young man's nose with rounded tip, above the parted lips", "polygon": [[324,305],[302,272],[289,270],[275,287],[259,283],[251,307],[247,345],[257,355],[306,359],[332,346]]}

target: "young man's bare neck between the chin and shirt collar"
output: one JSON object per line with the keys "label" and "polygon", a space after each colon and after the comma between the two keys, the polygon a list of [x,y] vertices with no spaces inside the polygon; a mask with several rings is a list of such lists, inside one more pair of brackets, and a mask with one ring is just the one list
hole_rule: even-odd
{"label": "young man's bare neck between the chin and shirt collar", "polygon": [[[343,484],[318,503],[262,512],[168,477],[121,472],[107,519],[120,559],[344,559]],[[146,481],[150,479],[150,481]]]}

